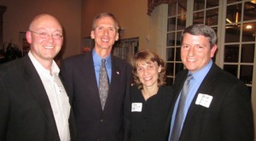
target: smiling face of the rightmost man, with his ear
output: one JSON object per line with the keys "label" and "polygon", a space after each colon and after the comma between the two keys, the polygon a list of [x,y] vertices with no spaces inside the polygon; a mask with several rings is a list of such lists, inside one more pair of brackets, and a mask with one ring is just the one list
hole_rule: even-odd
{"label": "smiling face of the rightmost man, with his ear", "polygon": [[200,71],[212,59],[216,49],[217,45],[211,48],[208,37],[185,33],[181,47],[183,65],[191,72]]}

